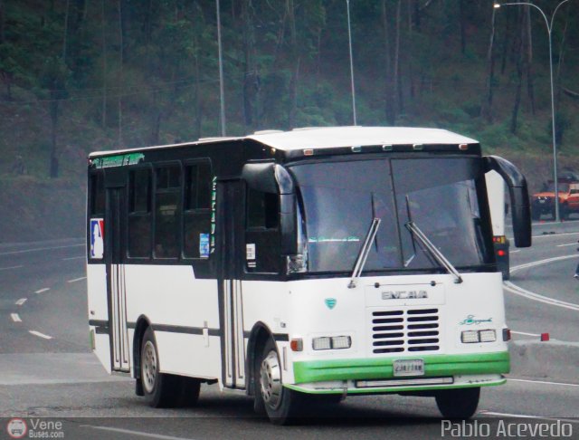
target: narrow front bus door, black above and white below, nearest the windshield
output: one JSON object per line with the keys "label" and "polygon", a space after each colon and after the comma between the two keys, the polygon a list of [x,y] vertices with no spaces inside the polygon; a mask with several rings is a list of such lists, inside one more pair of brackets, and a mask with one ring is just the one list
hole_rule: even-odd
{"label": "narrow front bus door, black above and white below, nearest the windshield", "polygon": [[217,183],[216,253],[219,255],[223,386],[245,387],[245,344],[242,308],[242,221],[245,188],[241,181]]}

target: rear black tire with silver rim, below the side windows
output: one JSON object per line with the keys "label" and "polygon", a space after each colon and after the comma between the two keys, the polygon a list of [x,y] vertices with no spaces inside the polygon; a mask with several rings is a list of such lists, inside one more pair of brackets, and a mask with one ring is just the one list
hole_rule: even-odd
{"label": "rear black tire with silver rim, below the side windows", "polygon": [[159,353],[155,335],[145,330],[141,344],[141,381],[147,403],[155,408],[175,407],[179,400],[181,378],[159,372]]}

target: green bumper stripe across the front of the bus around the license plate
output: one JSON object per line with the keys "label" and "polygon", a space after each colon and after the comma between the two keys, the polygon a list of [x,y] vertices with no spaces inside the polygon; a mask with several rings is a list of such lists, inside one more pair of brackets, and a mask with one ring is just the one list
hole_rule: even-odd
{"label": "green bumper stripe across the front of the bus around the license plate", "polygon": [[394,378],[396,359],[424,359],[424,377],[505,374],[510,370],[508,351],[459,355],[400,356],[380,359],[330,359],[293,363],[295,383],[322,380]]}

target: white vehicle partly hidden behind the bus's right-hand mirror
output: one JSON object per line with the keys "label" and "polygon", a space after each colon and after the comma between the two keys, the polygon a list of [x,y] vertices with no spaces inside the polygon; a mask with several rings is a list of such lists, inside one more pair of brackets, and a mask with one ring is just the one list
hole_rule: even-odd
{"label": "white vehicle partly hidden behind the bus's right-hand mirror", "polygon": [[495,257],[497,258],[498,269],[503,274],[503,280],[508,280],[510,277],[510,259],[508,254],[510,244],[505,234],[505,215],[507,215],[505,180],[494,170],[489,171],[485,177],[489,194],[492,242],[495,247]]}

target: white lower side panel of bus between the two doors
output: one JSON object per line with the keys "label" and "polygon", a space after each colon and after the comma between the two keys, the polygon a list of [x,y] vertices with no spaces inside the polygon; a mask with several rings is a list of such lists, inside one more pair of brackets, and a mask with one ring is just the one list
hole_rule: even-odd
{"label": "white lower side panel of bus between the two doors", "polygon": [[217,282],[195,279],[192,266],[165,264],[128,264],[126,282],[127,320],[147,317],[161,371],[220,378]]}

